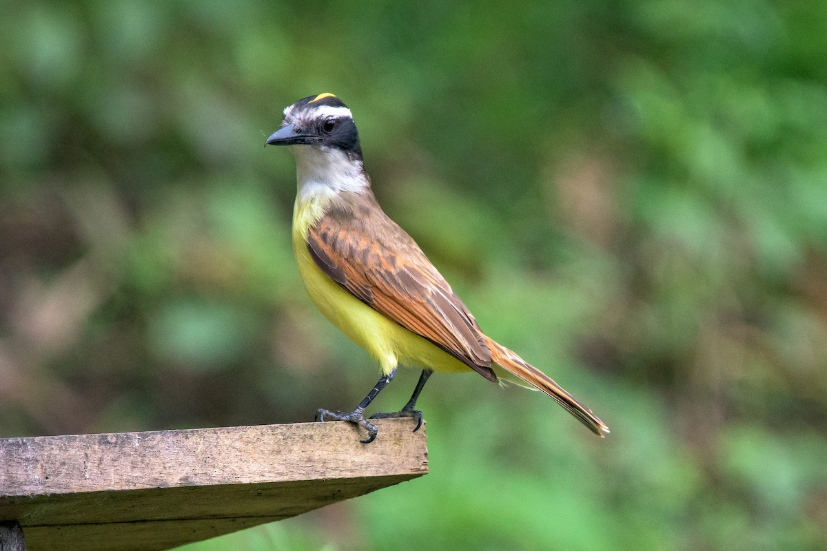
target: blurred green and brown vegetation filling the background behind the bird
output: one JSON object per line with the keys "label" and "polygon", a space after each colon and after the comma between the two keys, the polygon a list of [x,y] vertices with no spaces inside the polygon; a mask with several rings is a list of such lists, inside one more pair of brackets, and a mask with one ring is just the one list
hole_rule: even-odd
{"label": "blurred green and brown vegetation filling the background behind the bird", "polygon": [[437,376],[427,477],[189,551],[827,546],[824,2],[2,12],[0,435],[361,400],[375,366],[304,296],[293,159],[262,147],[329,91],[385,210],[612,434]]}

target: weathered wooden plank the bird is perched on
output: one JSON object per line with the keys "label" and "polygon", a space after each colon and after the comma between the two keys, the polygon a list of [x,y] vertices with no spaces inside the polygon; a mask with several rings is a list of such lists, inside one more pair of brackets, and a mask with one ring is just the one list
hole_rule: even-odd
{"label": "weathered wooden plank the bird is perched on", "polygon": [[0,521],[27,549],[169,549],[428,472],[424,430],[376,420],[0,439]]}

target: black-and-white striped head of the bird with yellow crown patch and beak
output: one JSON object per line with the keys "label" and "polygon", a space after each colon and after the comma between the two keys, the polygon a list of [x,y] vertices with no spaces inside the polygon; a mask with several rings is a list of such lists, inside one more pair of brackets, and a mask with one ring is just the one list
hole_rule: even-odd
{"label": "black-and-white striped head of the bird with yellow crown patch and beak", "polygon": [[267,138],[267,144],[309,145],[361,160],[359,134],[351,110],[332,93],[304,97],[286,107],[281,127]]}

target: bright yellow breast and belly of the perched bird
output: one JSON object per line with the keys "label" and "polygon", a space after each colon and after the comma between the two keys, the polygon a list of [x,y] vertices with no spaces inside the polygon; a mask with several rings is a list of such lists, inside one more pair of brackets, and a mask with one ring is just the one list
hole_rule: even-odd
{"label": "bright yellow breast and belly of the perched bird", "polygon": [[391,321],[328,278],[313,262],[305,243],[306,231],[302,227],[308,226],[303,222],[309,224],[313,220],[313,212],[307,210],[297,204],[294,211],[293,250],[304,287],[327,320],[379,360],[385,374],[399,364],[443,372],[471,370],[465,363]]}

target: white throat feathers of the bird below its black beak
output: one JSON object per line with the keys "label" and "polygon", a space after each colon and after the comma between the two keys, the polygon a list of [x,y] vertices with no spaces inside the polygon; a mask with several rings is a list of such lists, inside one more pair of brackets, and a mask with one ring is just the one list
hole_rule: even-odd
{"label": "white throat feathers of the bird below its black beak", "polygon": [[290,149],[296,156],[299,202],[370,188],[361,161],[340,150],[313,145],[293,145]]}

